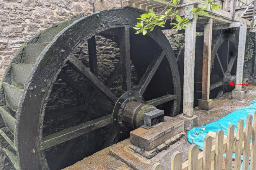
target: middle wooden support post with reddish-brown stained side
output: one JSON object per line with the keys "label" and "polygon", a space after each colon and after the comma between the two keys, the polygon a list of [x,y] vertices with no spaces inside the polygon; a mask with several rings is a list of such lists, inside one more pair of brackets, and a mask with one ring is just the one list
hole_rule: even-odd
{"label": "middle wooden support post with reddish-brown stained side", "polygon": [[210,65],[212,51],[212,21],[204,26],[204,53],[203,53],[203,75],[202,75],[202,100],[210,99]]}

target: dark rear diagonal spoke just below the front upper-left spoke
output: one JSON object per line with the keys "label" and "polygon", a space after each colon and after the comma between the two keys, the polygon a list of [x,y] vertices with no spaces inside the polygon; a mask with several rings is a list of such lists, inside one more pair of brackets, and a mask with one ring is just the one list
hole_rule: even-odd
{"label": "dark rear diagonal spoke just below the front upper-left spoke", "polygon": [[60,71],[59,77],[67,84],[69,84],[71,87],[76,89],[78,92],[80,92],[85,98],[90,96],[90,93],[86,91],[83,87],[81,87],[77,82],[73,81],[66,73]]}

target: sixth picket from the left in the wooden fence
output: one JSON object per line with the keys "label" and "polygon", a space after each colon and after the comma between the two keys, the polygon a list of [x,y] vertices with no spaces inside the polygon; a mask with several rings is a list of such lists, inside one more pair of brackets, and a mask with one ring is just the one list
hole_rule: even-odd
{"label": "sixth picket from the left in the wooden fence", "polygon": [[235,126],[234,125],[229,125],[228,126],[225,170],[230,170],[231,166],[232,166],[234,130],[235,130]]}

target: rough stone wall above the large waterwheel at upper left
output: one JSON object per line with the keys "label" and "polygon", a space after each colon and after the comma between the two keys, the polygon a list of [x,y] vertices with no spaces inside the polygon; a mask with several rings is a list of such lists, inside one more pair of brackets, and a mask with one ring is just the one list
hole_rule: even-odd
{"label": "rough stone wall above the large waterwheel at upper left", "polygon": [[[121,6],[121,0],[103,2]],[[68,18],[93,13],[94,3],[95,0],[0,0],[0,81],[11,59],[29,39]]]}

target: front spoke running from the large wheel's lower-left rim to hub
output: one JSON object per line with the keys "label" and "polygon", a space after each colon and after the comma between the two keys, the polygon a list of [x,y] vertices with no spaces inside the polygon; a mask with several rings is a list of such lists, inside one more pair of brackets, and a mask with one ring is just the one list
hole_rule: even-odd
{"label": "front spoke running from the large wheel's lower-left rim to hub", "polygon": [[109,114],[104,117],[97,118],[95,120],[91,120],[86,123],[82,123],[80,125],[73,126],[71,128],[59,131],[57,133],[45,136],[42,139],[43,142],[41,143],[41,150],[45,150],[49,147],[55,146],[65,141],[69,141],[83,134],[110,125],[112,124],[112,119],[112,114]]}

